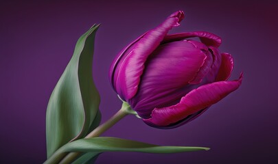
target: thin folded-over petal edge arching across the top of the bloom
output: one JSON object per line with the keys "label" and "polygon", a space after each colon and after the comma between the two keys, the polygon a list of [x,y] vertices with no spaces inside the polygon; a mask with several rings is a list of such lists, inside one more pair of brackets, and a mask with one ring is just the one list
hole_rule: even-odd
{"label": "thin folded-over petal edge arching across the top of the bloom", "polygon": [[167,35],[165,36],[163,42],[173,42],[192,37],[199,37],[202,43],[206,44],[207,46],[215,46],[216,48],[220,46],[222,42],[219,36],[216,36],[216,34],[209,33],[206,31],[194,31]]}

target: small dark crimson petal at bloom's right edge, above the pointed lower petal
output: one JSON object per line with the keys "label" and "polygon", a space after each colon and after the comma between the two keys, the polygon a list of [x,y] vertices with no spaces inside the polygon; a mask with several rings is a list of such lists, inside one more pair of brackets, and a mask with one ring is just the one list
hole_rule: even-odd
{"label": "small dark crimson petal at bloom's right edge, above the pointed lower petal", "polygon": [[229,53],[222,53],[222,62],[219,68],[216,81],[226,81],[233,70],[233,57]]}

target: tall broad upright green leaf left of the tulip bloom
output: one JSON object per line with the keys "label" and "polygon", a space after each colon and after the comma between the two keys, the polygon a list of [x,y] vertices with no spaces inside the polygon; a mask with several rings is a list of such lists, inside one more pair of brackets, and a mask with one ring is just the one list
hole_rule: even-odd
{"label": "tall broad upright green leaf left of the tulip bloom", "polygon": [[93,46],[98,27],[93,25],[78,39],[73,56],[49,99],[46,116],[48,158],[65,143],[84,137],[89,129],[100,123],[100,94],[92,76]]}

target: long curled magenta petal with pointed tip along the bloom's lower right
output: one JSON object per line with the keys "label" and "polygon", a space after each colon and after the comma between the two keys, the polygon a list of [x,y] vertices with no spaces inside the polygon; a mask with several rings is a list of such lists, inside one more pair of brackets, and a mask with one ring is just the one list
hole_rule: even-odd
{"label": "long curled magenta petal with pointed tip along the bloom's lower right", "polygon": [[219,81],[202,85],[181,98],[178,104],[154,109],[151,115],[152,118],[144,119],[143,121],[154,127],[170,126],[183,120],[188,115],[215,104],[229,93],[237,90],[241,83],[242,74],[240,74],[240,79],[236,81]]}

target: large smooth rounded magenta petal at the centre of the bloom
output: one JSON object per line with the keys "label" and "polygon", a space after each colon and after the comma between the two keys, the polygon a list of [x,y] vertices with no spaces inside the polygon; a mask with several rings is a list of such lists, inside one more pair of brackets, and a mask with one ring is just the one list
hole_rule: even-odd
{"label": "large smooth rounded magenta petal at the centre of the bloom", "polygon": [[183,87],[196,78],[206,59],[192,42],[162,44],[148,58],[140,89],[128,103],[142,118],[149,118],[155,107],[167,107],[189,92]]}

